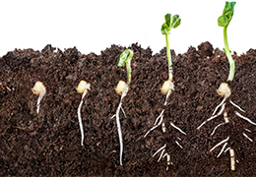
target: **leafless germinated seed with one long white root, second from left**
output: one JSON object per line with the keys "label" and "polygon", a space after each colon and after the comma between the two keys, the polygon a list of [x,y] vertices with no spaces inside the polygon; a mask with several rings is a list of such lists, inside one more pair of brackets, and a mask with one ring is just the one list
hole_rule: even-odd
{"label": "leafless germinated seed with one long white root, second from left", "polygon": [[78,106],[78,121],[79,121],[79,127],[81,131],[81,137],[82,137],[81,145],[84,146],[84,129],[83,129],[82,118],[81,118],[81,107],[83,104],[84,97],[86,96],[86,94],[88,93],[88,90],[90,89],[90,84],[82,80],[76,89],[78,93],[82,94],[82,98]]}

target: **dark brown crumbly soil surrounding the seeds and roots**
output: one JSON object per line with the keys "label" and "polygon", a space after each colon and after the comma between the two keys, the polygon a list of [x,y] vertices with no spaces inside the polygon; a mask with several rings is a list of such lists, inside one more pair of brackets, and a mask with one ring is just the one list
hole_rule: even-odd
{"label": "dark brown crumbly soil surrounding the seeds and roots", "polygon": [[[0,176],[255,176],[256,127],[236,116],[237,109],[228,101],[229,124],[210,136],[224,122],[222,115],[196,130],[223,100],[216,89],[229,71],[224,51],[209,42],[198,49],[190,46],[183,54],[171,50],[175,90],[164,107],[160,87],[168,76],[165,48],[155,55],[137,43],[129,48],[134,51],[132,83],[122,105],[126,118],[120,114],[123,166],[115,118],[110,117],[120,100],[114,87],[119,80],[126,81],[126,68],[115,66],[124,47],[112,45],[100,55],[84,55],[75,47],[62,51],[47,45],[41,51],[16,49],[1,57]],[[233,58],[236,72],[230,99],[246,111],[242,115],[256,122],[256,50],[240,56],[234,52]],[[82,95],[76,87],[81,80],[91,84],[81,109],[84,147],[77,116]],[[39,114],[37,95],[32,94],[36,81],[47,90]],[[166,132],[159,127],[143,138],[163,108]],[[219,158],[222,146],[209,151],[227,136],[238,160],[234,172],[228,151]],[[165,157],[160,162],[160,154],[152,157],[164,144],[173,163],[167,170]]]}

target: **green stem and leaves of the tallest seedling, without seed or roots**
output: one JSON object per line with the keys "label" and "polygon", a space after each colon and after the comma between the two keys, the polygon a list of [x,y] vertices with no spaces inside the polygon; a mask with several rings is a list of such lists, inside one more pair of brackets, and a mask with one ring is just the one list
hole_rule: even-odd
{"label": "green stem and leaves of the tallest seedling, without seed or roots", "polygon": [[224,53],[227,56],[227,59],[229,62],[229,74],[228,74],[227,82],[233,81],[234,70],[235,70],[234,60],[232,59],[232,56],[230,54],[230,50],[227,43],[227,35],[226,35],[227,26],[232,20],[234,5],[235,5],[235,2],[225,2],[223,15],[218,19],[218,25],[224,28]]}

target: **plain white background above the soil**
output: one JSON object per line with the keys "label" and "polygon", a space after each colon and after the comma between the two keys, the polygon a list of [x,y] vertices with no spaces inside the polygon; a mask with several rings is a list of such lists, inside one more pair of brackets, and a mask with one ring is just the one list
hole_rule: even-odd
{"label": "plain white background above the soil", "polygon": [[[76,46],[83,54],[111,44],[138,42],[154,53],[165,46],[160,32],[164,15],[178,14],[181,25],[170,31],[170,48],[184,53],[210,41],[224,47],[217,20],[224,0],[19,0],[0,2],[0,56],[15,48],[41,50],[46,44],[62,50]],[[256,1],[236,0],[227,28],[228,44],[238,54],[256,48]]]}

